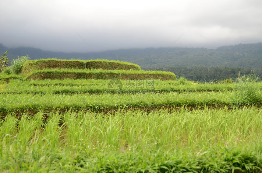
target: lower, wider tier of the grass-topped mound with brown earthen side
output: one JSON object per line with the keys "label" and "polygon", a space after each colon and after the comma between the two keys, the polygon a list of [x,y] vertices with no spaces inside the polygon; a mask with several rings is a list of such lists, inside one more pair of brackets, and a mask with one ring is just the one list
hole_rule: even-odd
{"label": "lower, wider tier of the grass-topped mound with brown earthen side", "polygon": [[158,79],[176,80],[172,72],[136,70],[75,70],[46,69],[30,73],[27,79]]}

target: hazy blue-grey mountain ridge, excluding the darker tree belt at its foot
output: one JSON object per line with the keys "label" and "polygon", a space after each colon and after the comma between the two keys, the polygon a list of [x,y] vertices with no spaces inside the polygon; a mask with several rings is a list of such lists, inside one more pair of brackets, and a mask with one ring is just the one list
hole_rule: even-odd
{"label": "hazy blue-grey mountain ridge, excluding the darker tree belt at its foot", "polygon": [[0,44],[0,55],[8,50],[10,60],[20,55],[31,59],[109,59],[135,63],[141,68],[167,69],[168,67],[240,67],[242,69],[261,69],[262,43],[207,48],[146,48],[119,49],[90,53],[63,53],[43,51],[30,47],[8,48]]}

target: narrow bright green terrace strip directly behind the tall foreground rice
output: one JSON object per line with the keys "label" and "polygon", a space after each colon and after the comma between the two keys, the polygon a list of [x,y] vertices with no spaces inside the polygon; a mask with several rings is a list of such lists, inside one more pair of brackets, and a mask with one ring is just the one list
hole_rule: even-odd
{"label": "narrow bright green terrace strip directly behind the tall foreground rice", "polygon": [[[158,108],[162,106],[237,106],[230,102],[232,93],[225,92],[165,92],[124,94],[1,94],[0,111],[44,109],[90,109],[95,111],[118,108]],[[261,98],[261,92],[260,98]],[[261,104],[261,102],[255,105]]]}

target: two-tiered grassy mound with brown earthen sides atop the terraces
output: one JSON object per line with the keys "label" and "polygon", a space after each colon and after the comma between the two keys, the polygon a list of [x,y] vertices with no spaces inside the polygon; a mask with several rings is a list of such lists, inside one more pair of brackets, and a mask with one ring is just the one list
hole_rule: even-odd
{"label": "two-tiered grassy mound with brown earthen sides atop the terraces", "polygon": [[142,71],[136,64],[108,60],[48,59],[27,61],[23,64],[22,74],[29,74],[28,79],[176,79],[175,74],[171,72]]}

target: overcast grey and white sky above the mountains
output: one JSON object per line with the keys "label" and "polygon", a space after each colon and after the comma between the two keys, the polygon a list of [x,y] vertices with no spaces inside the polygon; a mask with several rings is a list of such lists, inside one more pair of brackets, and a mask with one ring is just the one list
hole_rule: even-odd
{"label": "overcast grey and white sky above the mountains", "polygon": [[2,0],[0,43],[64,52],[215,49],[262,42],[261,9],[261,0]]}

